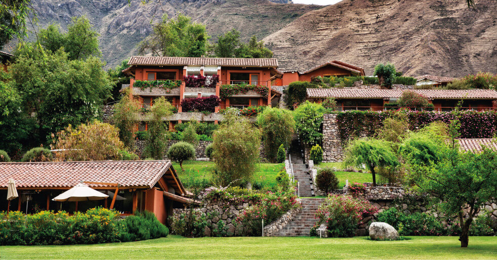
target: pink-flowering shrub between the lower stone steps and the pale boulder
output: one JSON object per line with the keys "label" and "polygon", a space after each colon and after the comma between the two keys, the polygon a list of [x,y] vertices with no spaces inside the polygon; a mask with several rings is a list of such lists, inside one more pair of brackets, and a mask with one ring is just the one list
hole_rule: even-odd
{"label": "pink-flowering shrub between the lower stone steps and the pale boulder", "polygon": [[318,219],[313,230],[326,223],[331,237],[351,237],[363,223],[366,216],[375,214],[378,210],[367,201],[354,199],[349,196],[330,195],[316,210]]}

